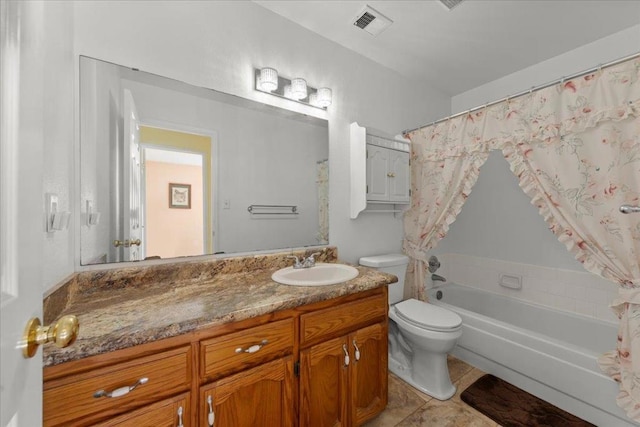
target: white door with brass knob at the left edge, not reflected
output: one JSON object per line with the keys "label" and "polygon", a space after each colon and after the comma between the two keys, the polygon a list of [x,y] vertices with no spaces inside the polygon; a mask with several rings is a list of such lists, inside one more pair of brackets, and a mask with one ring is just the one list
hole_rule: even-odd
{"label": "white door with brass knob at the left edge, not reflected", "polygon": [[45,6],[0,0],[0,426],[42,425],[42,351],[22,356],[42,319]]}

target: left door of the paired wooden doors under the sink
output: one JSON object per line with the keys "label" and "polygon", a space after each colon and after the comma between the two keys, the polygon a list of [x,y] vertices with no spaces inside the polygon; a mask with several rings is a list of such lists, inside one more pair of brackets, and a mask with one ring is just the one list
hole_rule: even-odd
{"label": "left door of the paired wooden doors under the sink", "polygon": [[300,426],[334,427],[348,424],[349,366],[346,337],[300,352]]}

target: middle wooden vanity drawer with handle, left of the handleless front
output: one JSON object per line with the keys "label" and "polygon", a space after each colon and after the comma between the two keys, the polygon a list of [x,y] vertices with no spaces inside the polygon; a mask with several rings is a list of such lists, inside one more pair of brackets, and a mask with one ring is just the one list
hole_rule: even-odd
{"label": "middle wooden vanity drawer with handle, left of the handleless front", "polygon": [[211,380],[293,351],[293,319],[284,319],[200,342],[200,376]]}

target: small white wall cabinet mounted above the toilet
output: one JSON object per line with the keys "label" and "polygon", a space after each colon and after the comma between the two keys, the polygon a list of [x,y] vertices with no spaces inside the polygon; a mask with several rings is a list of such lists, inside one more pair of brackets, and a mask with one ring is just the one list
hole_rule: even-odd
{"label": "small white wall cabinet mounted above the toilet", "polygon": [[350,126],[351,219],[360,212],[402,212],[411,203],[409,143]]}

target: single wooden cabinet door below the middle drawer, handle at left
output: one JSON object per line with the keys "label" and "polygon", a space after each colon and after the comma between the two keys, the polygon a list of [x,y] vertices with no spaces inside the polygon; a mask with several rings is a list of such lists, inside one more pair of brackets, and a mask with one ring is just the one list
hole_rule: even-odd
{"label": "single wooden cabinet door below the middle drawer, handle at left", "polygon": [[[200,425],[291,427],[294,425],[293,359],[265,363],[200,388]],[[209,407],[211,398],[211,408]]]}

